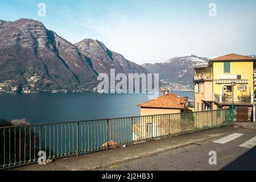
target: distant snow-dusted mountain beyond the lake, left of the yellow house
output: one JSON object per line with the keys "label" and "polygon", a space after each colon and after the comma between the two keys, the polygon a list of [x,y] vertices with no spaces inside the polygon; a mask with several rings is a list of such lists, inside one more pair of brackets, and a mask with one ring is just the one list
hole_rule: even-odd
{"label": "distant snow-dusted mountain beyond the lake, left of the yellow house", "polygon": [[206,57],[188,54],[172,57],[162,63],[142,64],[142,67],[150,73],[159,73],[159,79],[164,84],[183,83],[192,88],[194,67],[207,64],[208,61]]}

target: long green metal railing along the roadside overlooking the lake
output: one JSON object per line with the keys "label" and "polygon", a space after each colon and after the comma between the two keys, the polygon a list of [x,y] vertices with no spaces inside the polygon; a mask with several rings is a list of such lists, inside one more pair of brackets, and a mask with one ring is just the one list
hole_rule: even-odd
{"label": "long green metal railing along the roadside overlooking the lake", "polygon": [[232,110],[0,127],[0,169],[88,154],[228,125]]}

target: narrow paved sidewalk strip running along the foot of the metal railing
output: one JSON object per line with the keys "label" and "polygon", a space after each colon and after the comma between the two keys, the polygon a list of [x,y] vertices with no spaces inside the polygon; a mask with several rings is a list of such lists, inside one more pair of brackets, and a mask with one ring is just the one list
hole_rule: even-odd
{"label": "narrow paved sidewalk strip running along the foot of the metal railing", "polygon": [[174,150],[175,148],[187,146],[188,144],[214,139],[236,130],[238,130],[238,128],[234,126],[225,126],[217,129],[180,135],[177,137],[134,144],[133,146],[118,147],[112,150],[99,151],[92,154],[58,159],[46,165],[32,164],[29,166],[13,168],[12,170],[73,171],[99,169],[102,167],[114,166],[118,163],[129,162],[130,160],[139,159],[146,156],[152,156],[158,154],[159,152]]}

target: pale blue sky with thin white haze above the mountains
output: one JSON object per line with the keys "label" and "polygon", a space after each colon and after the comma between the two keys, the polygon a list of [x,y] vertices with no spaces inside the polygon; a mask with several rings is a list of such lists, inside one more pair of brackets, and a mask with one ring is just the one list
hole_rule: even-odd
{"label": "pale blue sky with thin white haze above the mountains", "polygon": [[19,18],[39,20],[71,43],[100,40],[137,64],[188,53],[256,55],[255,0],[0,0],[0,19]]}

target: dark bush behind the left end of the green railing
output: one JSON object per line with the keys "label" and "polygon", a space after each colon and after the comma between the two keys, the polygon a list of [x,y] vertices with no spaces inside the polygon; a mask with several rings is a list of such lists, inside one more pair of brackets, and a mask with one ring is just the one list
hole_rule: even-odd
{"label": "dark bush behind the left end of the green railing", "polygon": [[25,161],[27,163],[38,158],[39,135],[31,132],[32,127],[26,125],[29,125],[26,119],[13,121],[0,119],[0,168],[3,164],[13,166],[15,163]]}

